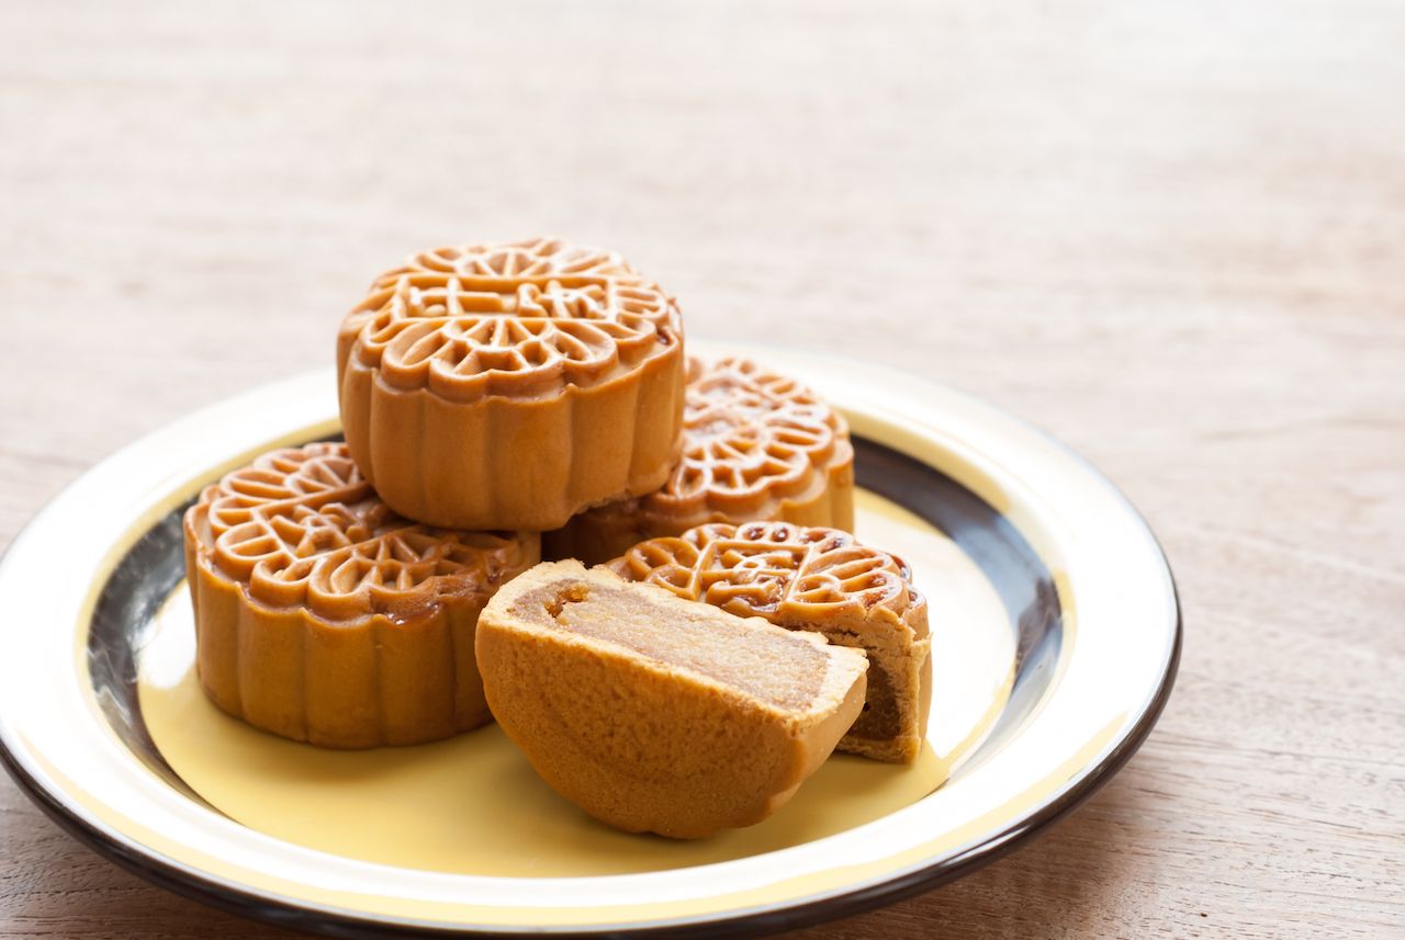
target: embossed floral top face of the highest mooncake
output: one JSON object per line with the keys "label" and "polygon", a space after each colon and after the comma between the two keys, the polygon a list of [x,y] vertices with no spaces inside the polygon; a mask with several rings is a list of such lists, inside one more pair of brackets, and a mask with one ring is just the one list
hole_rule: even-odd
{"label": "embossed floral top face of the highest mooncake", "polygon": [[414,255],[377,278],[340,345],[392,387],[472,400],[592,386],[681,335],[673,299],[618,254],[537,239]]}

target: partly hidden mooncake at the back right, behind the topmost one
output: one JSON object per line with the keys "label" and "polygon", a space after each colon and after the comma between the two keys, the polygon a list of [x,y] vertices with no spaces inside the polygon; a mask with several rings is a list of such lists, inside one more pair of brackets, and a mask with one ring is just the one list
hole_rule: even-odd
{"label": "partly hidden mooncake at the back right, behind the topmost one", "polygon": [[799,382],[749,359],[691,359],[683,428],[660,490],[575,516],[542,536],[545,556],[597,564],[710,522],[853,529],[849,425]]}

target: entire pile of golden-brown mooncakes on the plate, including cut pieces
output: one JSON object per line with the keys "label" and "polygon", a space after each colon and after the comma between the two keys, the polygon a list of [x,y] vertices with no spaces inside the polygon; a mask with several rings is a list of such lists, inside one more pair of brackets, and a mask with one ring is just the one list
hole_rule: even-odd
{"label": "entire pile of golden-brown mooncakes on the plate, including cut pieces", "polygon": [[337,383],[344,443],[187,512],[222,710],[330,748],[496,718],[568,800],[677,838],[759,822],[836,748],[916,758],[926,602],[849,533],[847,425],[757,363],[687,358],[677,303],[618,254],[414,255],[347,314]]}

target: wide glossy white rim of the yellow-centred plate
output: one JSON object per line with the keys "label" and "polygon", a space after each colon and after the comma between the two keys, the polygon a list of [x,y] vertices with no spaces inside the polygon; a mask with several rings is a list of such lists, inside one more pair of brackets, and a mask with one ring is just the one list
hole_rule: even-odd
{"label": "wide glossy white rim of the yellow-centred plate", "polygon": [[257,452],[334,432],[330,370],[254,389],[142,438],[15,537],[0,561],[0,744],[11,772],[51,814],[107,843],[107,854],[207,901],[225,895],[225,906],[246,913],[267,905],[422,930],[573,933],[735,923],[836,898],[873,906],[884,885],[920,889],[944,880],[941,868],[953,877],[955,866],[998,853],[1130,756],[1169,694],[1180,623],[1165,557],[1111,483],[1023,421],[910,375],[776,348],[690,341],[694,351],[753,355],[806,382],[856,434],[936,466],[1003,512],[1054,574],[1065,617],[1057,675],[1020,732],[969,773],[905,810],[791,849],[584,878],[451,875],[343,859],[178,794],[98,711],[84,615],[140,535],[136,523]]}

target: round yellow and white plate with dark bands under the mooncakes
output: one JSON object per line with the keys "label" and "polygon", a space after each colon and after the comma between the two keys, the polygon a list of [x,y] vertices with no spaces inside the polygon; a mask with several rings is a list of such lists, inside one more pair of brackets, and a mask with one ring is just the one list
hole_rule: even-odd
{"label": "round yellow and white plate with dark bands under the mooncakes", "polygon": [[1151,731],[1180,650],[1155,539],[1096,470],[940,384],[740,352],[850,421],[861,539],[932,603],[920,759],[832,758],[776,817],[628,836],[541,784],[496,727],[327,752],[218,713],[192,672],[181,512],[277,448],[339,432],[319,372],[108,457],[0,561],[0,758],[101,854],[173,891],[336,936],[764,933],[916,894],[1034,836]]}

